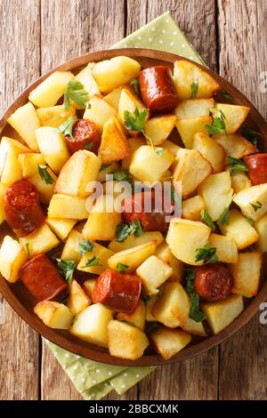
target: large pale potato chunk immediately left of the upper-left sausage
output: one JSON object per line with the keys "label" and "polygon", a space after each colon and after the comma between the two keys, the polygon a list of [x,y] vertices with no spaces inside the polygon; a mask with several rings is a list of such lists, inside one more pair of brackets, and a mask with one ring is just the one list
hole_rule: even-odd
{"label": "large pale potato chunk immediately left of the upper-left sausage", "polygon": [[36,139],[44,161],[54,173],[59,174],[62,166],[69,159],[69,150],[64,135],[59,133],[57,128],[41,126],[36,129]]}

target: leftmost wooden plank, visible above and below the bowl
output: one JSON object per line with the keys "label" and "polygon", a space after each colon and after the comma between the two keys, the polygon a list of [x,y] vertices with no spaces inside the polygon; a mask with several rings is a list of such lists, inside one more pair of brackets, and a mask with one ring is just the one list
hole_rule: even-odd
{"label": "leftmost wooden plank, visible above and below the bowl", "polygon": [[[39,76],[39,0],[0,2],[0,109]],[[0,296],[0,399],[38,398],[38,335]]]}

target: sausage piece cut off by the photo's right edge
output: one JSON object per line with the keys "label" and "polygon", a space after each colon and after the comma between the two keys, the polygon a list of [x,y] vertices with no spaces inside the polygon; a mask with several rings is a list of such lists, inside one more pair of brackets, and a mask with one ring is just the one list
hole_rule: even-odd
{"label": "sausage piece cut off by the photo's right edge", "polygon": [[267,183],[267,153],[252,154],[243,158],[247,168],[248,176],[255,186],[256,184]]}

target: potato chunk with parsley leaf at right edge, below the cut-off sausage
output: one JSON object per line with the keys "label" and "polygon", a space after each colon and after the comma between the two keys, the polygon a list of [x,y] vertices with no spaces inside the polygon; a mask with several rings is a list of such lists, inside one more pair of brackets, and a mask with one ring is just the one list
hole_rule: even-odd
{"label": "potato chunk with parsley leaf at right edge, below the cut-off sausage", "polygon": [[243,215],[257,221],[267,212],[267,183],[239,191],[233,201]]}

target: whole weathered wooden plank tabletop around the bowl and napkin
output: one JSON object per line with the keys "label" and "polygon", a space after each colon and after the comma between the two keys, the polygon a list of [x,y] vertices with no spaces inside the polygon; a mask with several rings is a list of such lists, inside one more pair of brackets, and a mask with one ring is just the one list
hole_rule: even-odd
{"label": "whole weathered wooden plank tabletop around the bowl and napkin", "polygon": [[[109,48],[167,10],[207,65],[266,118],[260,91],[267,70],[264,0],[0,0],[1,112],[48,69]],[[266,375],[267,333],[258,314],[219,347],[158,367],[123,397],[107,399],[265,399]],[[0,399],[81,398],[39,335],[1,295],[0,382]]]}

